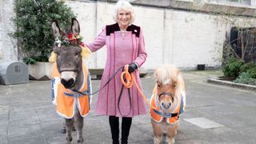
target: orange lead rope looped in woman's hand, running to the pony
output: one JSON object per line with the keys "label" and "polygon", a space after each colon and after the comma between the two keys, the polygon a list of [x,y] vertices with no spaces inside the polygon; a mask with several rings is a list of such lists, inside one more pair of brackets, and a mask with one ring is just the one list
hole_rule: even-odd
{"label": "orange lead rope looped in woman's hand, running to the pony", "polygon": [[[154,110],[159,110],[158,107],[155,107],[155,106],[151,106],[150,105],[150,102],[146,99],[146,96],[142,93],[142,90],[140,90],[139,86],[138,86],[138,83],[136,82],[136,79],[134,78],[134,74],[130,74],[128,72],[128,69],[129,69],[129,65],[126,65],[124,67],[124,70],[122,71],[122,74],[121,74],[121,82],[122,82],[122,85],[125,86],[127,89],[130,88],[131,86],[133,86],[133,84],[135,83],[135,86],[136,88],[138,89],[138,92],[140,94],[142,94],[142,98],[144,99],[144,101]],[[124,80],[124,77],[126,78],[126,82]]]}

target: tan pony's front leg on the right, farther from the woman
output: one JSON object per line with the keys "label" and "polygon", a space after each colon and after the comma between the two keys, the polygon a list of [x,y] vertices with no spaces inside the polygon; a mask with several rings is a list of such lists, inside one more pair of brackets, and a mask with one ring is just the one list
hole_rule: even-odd
{"label": "tan pony's front leg on the right, farther from the woman", "polygon": [[174,144],[175,135],[177,134],[178,122],[174,123],[174,125],[166,125],[166,143]]}

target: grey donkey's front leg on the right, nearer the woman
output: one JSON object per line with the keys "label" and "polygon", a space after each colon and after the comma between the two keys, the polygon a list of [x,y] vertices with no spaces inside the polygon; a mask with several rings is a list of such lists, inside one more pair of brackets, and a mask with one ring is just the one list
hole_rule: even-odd
{"label": "grey donkey's front leg on the right, nearer the woman", "polygon": [[78,143],[79,142],[83,142],[83,138],[82,138],[83,118],[80,115],[78,109],[76,110],[74,118],[76,120],[76,122],[74,124],[75,124],[75,128],[77,130],[77,140],[78,140]]}

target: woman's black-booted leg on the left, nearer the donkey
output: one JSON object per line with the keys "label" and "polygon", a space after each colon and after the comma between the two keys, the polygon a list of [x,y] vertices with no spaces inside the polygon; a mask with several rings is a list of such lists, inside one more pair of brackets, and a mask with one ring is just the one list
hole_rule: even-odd
{"label": "woman's black-booted leg on the left, nearer the donkey", "polygon": [[119,118],[115,116],[110,116],[110,129],[112,134],[113,144],[119,144]]}

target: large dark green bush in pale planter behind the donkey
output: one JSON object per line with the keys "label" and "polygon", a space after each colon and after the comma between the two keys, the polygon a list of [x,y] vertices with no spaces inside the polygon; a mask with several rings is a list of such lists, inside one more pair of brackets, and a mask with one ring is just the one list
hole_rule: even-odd
{"label": "large dark green bush in pale planter behind the donkey", "polygon": [[14,0],[14,12],[17,29],[12,35],[18,39],[19,58],[29,65],[30,78],[49,79],[51,64],[46,62],[54,44],[51,22],[55,19],[69,26],[73,12],[64,2],[56,0]]}

